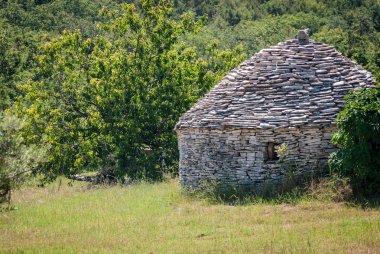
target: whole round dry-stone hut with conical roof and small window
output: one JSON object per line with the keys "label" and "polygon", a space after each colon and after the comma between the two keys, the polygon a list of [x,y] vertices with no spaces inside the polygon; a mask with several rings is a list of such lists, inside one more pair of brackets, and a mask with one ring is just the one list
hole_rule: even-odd
{"label": "whole round dry-stone hut with conical roof and small window", "polygon": [[[309,40],[307,30],[261,50],[180,118],[180,183],[257,189],[326,169],[343,96],[374,81],[333,46]],[[277,154],[282,144],[291,169]]]}

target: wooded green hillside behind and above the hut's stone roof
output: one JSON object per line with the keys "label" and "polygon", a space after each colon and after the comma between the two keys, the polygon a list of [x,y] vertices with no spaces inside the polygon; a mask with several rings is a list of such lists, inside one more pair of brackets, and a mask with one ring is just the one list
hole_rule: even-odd
{"label": "wooded green hillside behind and above the hut's stone roof", "polygon": [[178,10],[208,15],[208,25],[187,42],[218,39],[221,47],[244,45],[249,55],[294,38],[309,27],[312,39],[332,44],[380,78],[378,0],[189,0]]}

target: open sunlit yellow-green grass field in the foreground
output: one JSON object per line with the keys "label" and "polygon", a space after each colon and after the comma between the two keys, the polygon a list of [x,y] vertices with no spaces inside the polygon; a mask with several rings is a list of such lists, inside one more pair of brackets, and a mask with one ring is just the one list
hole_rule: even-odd
{"label": "open sunlit yellow-green grass field in the foreground", "polygon": [[380,210],[301,199],[210,204],[175,181],[29,188],[0,213],[2,253],[380,253]]}

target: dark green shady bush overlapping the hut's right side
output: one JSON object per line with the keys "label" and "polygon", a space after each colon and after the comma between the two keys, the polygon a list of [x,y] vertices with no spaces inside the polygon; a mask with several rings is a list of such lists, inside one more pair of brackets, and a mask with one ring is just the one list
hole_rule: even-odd
{"label": "dark green shady bush overlapping the hut's right side", "polygon": [[358,194],[380,192],[380,90],[352,92],[338,115],[333,143],[341,149],[330,158],[334,172],[349,177]]}

